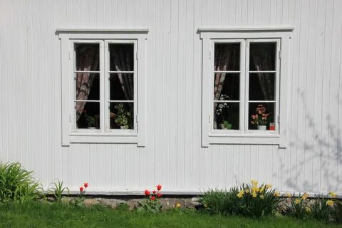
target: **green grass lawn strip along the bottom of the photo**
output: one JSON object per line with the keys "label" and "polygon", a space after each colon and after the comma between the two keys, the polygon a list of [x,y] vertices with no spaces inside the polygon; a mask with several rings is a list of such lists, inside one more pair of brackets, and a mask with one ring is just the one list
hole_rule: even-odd
{"label": "green grass lawn strip along the bottom of the photo", "polygon": [[151,214],[98,205],[87,208],[41,202],[1,205],[0,221],[0,227],[342,227],[282,216],[251,219],[210,216],[192,210]]}

